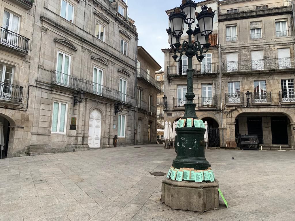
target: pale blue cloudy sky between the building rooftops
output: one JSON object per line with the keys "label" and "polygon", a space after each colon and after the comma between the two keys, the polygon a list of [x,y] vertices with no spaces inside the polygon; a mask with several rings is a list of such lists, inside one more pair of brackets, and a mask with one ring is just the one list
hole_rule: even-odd
{"label": "pale blue cloudy sky between the building rooftops", "polygon": [[[126,0],[125,0],[126,2]],[[169,48],[168,15],[165,10],[179,6],[181,0],[127,0],[129,17],[135,20],[138,46],[145,50],[164,70],[163,48]]]}

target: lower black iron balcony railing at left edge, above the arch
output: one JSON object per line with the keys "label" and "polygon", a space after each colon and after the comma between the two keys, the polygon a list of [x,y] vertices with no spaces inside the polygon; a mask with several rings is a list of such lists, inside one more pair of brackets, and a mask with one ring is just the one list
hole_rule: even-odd
{"label": "lower black iron balcony railing at left edge, above the arch", "polygon": [[0,100],[22,103],[23,90],[21,86],[0,82]]}

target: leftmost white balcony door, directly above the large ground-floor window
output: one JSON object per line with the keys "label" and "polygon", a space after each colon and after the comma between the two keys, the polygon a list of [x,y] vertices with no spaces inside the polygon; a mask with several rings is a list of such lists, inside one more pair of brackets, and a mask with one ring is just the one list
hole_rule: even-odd
{"label": "leftmost white balcony door, directly above the large ground-floor window", "polygon": [[71,66],[71,56],[58,51],[56,62],[56,82],[68,85],[70,66]]}

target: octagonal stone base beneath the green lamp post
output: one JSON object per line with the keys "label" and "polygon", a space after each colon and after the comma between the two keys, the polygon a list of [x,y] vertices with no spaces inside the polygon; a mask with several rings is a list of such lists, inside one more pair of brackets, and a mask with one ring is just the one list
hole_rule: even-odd
{"label": "octagonal stone base beneath the green lamp post", "polygon": [[209,183],[162,181],[162,202],[171,209],[205,212],[219,208],[218,180]]}

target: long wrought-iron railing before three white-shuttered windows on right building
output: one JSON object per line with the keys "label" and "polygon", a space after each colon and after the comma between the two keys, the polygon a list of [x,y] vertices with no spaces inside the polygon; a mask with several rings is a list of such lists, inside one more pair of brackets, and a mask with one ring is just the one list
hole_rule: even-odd
{"label": "long wrought-iron railing before three white-shuttered windows on right building", "polygon": [[263,60],[229,61],[224,62],[223,71],[249,71],[295,68],[294,57],[272,58]]}

